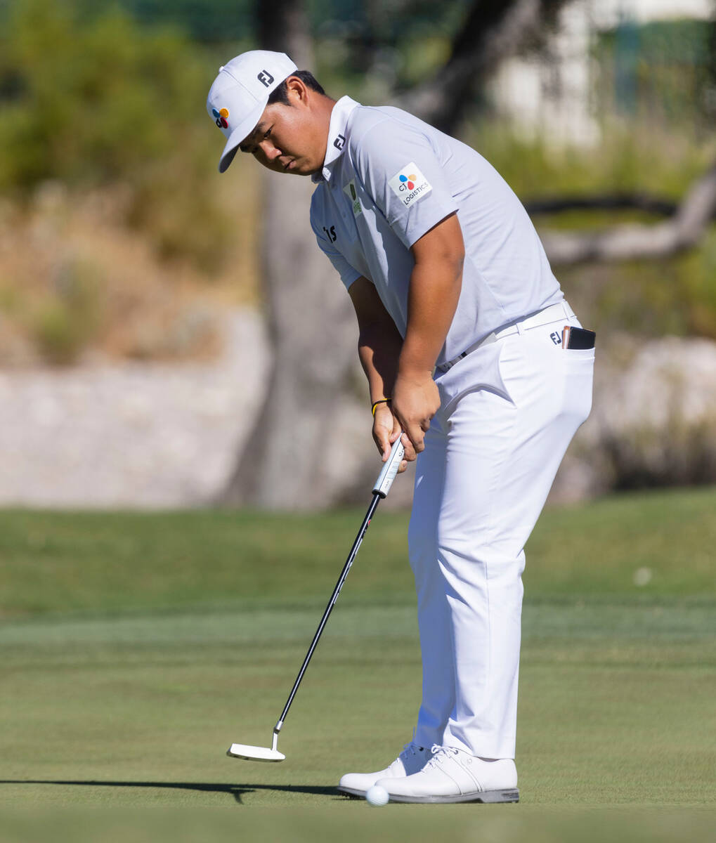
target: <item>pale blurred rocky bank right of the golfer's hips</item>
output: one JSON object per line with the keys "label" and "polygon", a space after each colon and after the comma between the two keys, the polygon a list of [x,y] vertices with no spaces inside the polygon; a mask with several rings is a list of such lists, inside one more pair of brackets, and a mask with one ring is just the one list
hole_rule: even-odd
{"label": "pale blurred rocky bank right of the golfer's hips", "polygon": [[675,336],[600,346],[591,416],[552,501],[716,482],[716,343]]}

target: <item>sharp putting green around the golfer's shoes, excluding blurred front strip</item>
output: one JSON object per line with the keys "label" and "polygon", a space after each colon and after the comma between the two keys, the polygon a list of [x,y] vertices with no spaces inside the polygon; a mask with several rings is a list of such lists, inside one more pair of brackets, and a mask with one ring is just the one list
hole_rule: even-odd
{"label": "sharp putting green around the golfer's shoes, excluding blurred front strip", "polygon": [[[709,625],[701,607],[527,606],[523,803],[708,803]],[[381,765],[410,737],[408,607],[336,611],[283,730],[285,762],[223,755],[234,740],[270,742],[314,627],[299,609],[6,623],[3,800],[336,802],[347,764]]]}

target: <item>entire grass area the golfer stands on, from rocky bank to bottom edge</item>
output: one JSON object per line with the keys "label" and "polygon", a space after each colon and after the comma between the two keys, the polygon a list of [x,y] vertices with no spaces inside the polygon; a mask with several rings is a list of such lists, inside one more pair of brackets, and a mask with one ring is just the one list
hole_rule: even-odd
{"label": "entire grass area the golfer stands on, from rocky bank to bottom edge", "polygon": [[275,830],[307,840],[341,813],[366,834],[379,815],[426,830],[450,818],[468,840],[480,813],[498,840],[577,825],[592,839],[588,815],[612,837],[697,837],[716,823],[714,510],[700,490],[545,513],[527,549],[520,805],[379,813],[335,785],[411,737],[405,515],[376,516],[283,728],[287,760],[261,765],[224,752],[270,744],[362,513],[0,513],[6,837],[58,806],[70,824],[73,808],[105,808],[105,830],[127,808],[180,809],[175,840],[207,807],[256,809],[233,826],[218,813],[227,834],[263,834],[277,808]]}

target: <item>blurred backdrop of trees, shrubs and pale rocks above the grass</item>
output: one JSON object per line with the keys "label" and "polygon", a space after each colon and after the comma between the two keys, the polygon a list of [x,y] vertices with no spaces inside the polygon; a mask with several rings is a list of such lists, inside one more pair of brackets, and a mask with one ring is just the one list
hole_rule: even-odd
{"label": "blurred backdrop of trees, shrubs and pale rocks above the grass", "polygon": [[365,497],[311,185],[217,172],[207,90],[259,46],[460,137],[525,203],[598,334],[552,502],[716,481],[713,0],[2,0],[0,33],[0,504]]}

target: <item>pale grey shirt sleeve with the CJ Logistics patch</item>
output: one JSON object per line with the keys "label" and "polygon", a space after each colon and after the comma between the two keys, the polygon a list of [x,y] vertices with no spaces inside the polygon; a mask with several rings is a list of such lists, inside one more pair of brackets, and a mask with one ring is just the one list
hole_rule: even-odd
{"label": "pale grey shirt sleeve with the CJ Logistics patch", "polygon": [[439,156],[416,126],[386,117],[355,141],[353,161],[363,187],[408,249],[458,210]]}

